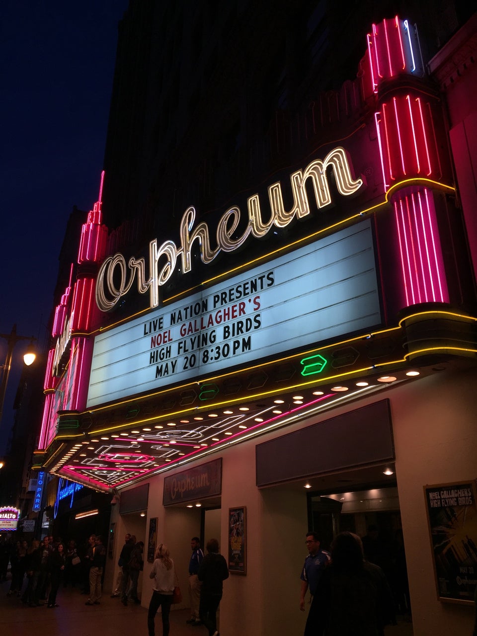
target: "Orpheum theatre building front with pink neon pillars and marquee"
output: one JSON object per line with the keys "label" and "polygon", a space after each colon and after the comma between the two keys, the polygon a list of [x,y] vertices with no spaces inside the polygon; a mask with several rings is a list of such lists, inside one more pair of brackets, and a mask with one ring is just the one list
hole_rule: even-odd
{"label": "Orpheum theatre building front with pink neon pillars and marquee", "polygon": [[473,620],[476,18],[370,7],[131,2],[57,307],[38,465],[184,576],[217,536],[231,635],[300,633],[305,531],[370,523],[415,633]]}

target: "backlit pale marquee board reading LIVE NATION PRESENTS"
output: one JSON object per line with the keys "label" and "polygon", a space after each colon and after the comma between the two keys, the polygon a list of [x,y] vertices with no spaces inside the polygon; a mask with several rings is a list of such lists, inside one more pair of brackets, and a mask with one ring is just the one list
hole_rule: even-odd
{"label": "backlit pale marquee board reading LIVE NATION PRESENTS", "polygon": [[366,219],[97,335],[87,406],[379,323]]}

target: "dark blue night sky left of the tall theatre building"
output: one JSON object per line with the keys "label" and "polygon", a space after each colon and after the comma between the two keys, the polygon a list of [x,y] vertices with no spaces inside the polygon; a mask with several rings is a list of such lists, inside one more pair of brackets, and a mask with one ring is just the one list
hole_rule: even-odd
{"label": "dark blue night sky left of the tall theatre building", "polygon": [[[1,0],[0,333],[45,342],[73,205],[99,193],[118,22],[128,0]],[[25,345],[28,343],[26,342]],[[0,429],[13,422],[17,343]],[[6,340],[0,338],[0,364]]]}

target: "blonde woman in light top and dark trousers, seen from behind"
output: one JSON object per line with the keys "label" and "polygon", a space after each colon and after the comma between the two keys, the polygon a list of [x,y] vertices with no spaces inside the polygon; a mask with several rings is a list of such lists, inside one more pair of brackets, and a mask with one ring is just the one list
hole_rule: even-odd
{"label": "blonde woman in light top and dark trousers, seen from behind", "polygon": [[163,636],[169,636],[169,612],[176,582],[176,569],[169,550],[163,543],[156,552],[156,560],[149,577],[154,579],[153,595],[148,612],[149,636],[154,636],[154,619],[160,607],[162,608],[162,633]]}

